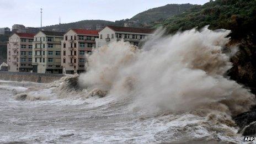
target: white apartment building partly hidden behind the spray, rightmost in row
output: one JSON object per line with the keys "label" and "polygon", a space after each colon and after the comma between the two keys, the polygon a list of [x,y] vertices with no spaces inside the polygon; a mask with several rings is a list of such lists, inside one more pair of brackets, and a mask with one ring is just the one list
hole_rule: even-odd
{"label": "white apartment building partly hidden behind the spray, rightmost in row", "polygon": [[96,47],[101,47],[113,41],[129,41],[130,44],[140,47],[148,35],[153,33],[153,29],[131,28],[122,26],[106,26],[99,31],[99,38],[95,39]]}

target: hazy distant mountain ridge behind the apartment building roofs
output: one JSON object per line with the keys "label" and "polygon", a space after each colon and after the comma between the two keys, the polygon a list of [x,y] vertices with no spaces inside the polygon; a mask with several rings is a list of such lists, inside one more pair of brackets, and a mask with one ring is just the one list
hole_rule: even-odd
{"label": "hazy distant mountain ridge behind the apartment building roofs", "polygon": [[105,25],[124,26],[124,23],[127,23],[129,21],[136,21],[136,25],[132,24],[130,26],[143,27],[149,23],[156,22],[159,20],[164,20],[173,15],[180,14],[193,6],[195,6],[195,5],[193,5],[193,4],[167,4],[166,6],[163,6],[163,7],[152,8],[152,9],[146,10],[145,12],[138,13],[131,19],[116,20],[115,22],[110,22],[110,21],[106,21],[106,20],[82,20],[82,21],[73,22],[73,23],[45,26],[42,29],[45,29],[45,30],[52,30],[52,29],[68,30],[70,28],[81,28],[81,29],[95,30],[95,29],[97,29],[97,26],[99,26],[98,28],[100,28],[100,26],[104,27]]}

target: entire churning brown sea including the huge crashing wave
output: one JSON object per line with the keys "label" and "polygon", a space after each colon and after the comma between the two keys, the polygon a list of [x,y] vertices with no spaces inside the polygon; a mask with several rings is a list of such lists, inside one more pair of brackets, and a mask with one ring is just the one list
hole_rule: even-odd
{"label": "entire churning brown sea including the huge crashing wave", "polygon": [[255,95],[226,76],[230,32],[157,30],[95,49],[79,77],[0,81],[0,143],[243,143],[232,116]]}

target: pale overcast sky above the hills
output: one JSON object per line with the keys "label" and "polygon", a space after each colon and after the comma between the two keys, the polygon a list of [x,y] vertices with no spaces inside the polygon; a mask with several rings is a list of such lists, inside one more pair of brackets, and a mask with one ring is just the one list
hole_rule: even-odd
{"label": "pale overcast sky above the hills", "polygon": [[13,24],[40,26],[77,22],[86,19],[121,20],[147,9],[173,3],[204,4],[209,0],[0,0],[0,28]]}

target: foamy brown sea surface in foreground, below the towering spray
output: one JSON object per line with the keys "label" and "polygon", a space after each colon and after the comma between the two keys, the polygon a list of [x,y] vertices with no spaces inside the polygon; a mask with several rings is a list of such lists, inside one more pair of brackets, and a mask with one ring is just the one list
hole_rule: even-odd
{"label": "foamy brown sea surface in foreground, below the towering spray", "polygon": [[[236,127],[211,123],[193,112],[154,113],[130,110],[129,100],[115,97],[17,100],[15,93],[44,84],[1,81],[0,143],[240,143]],[[40,95],[40,94],[39,94]],[[34,97],[41,97],[34,94]],[[55,97],[55,98],[52,98]]]}

